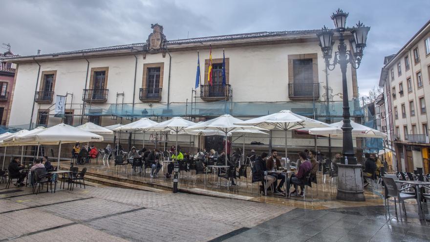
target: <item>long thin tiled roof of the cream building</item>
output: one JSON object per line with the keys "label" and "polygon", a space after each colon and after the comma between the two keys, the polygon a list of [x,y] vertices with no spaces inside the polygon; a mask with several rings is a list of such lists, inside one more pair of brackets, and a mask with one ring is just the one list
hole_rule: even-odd
{"label": "long thin tiled roof of the cream building", "polygon": [[[220,36],[191,38],[191,39],[183,39],[183,40],[170,40],[170,41],[167,41],[167,44],[192,44],[192,43],[201,43],[201,42],[217,42],[217,41],[226,41],[226,40],[252,39],[252,38],[264,38],[264,37],[275,37],[275,36],[315,35],[319,31],[320,30],[293,30],[293,31],[256,32],[256,33],[246,33],[246,34],[220,35]],[[20,58],[71,55],[71,54],[83,54],[83,53],[100,52],[100,51],[108,51],[108,50],[130,49],[132,47],[142,47],[145,44],[146,43],[123,44],[123,45],[115,45],[115,46],[108,46],[108,47],[64,51],[64,52],[58,52],[58,53],[20,56]],[[7,60],[8,58],[10,57],[7,56],[4,59]],[[12,58],[16,58],[16,57],[12,57]]]}

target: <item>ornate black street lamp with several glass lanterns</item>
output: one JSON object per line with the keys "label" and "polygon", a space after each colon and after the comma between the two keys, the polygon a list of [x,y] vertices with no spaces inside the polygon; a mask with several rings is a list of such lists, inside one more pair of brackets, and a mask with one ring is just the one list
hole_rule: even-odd
{"label": "ornate black street lamp with several glass lanterns", "polygon": [[[343,130],[343,164],[345,166],[345,169],[349,168],[351,169],[359,169],[357,165],[357,158],[354,154],[354,147],[352,143],[352,127],[350,122],[350,113],[349,113],[349,100],[348,100],[348,87],[346,82],[346,69],[347,65],[351,64],[351,66],[354,69],[357,69],[360,66],[361,59],[363,57],[363,51],[366,47],[366,40],[367,40],[367,33],[370,30],[370,27],[366,27],[363,23],[358,22],[358,24],[353,28],[347,28],[346,27],[346,18],[348,17],[348,13],[345,13],[341,9],[338,9],[336,13],[333,13],[331,16],[331,19],[334,22],[335,29],[334,31],[339,35],[339,44],[338,44],[338,51],[335,51],[334,58],[332,58],[332,51],[333,51],[333,45],[334,45],[334,31],[328,29],[327,27],[323,27],[320,33],[317,34],[318,39],[320,41],[321,50],[323,52],[323,58],[325,60],[325,65],[327,66],[327,69],[333,70],[337,64],[341,67],[342,72],[342,89],[343,89],[343,118],[344,118],[344,124],[342,126]],[[349,50],[347,49],[347,46],[344,41],[344,33],[348,31],[352,34],[353,38],[349,40]],[[333,63],[330,63],[330,60],[333,59]],[[355,171],[354,171],[355,172]],[[353,174],[346,174],[348,171],[345,172],[345,176],[354,176]],[[341,175],[339,175],[341,177]],[[361,178],[360,178],[361,180]],[[358,184],[357,184],[358,185]],[[348,187],[346,185],[345,187]],[[342,190],[338,187],[338,198],[339,191]],[[353,193],[350,193],[351,191],[345,191],[342,190],[344,193],[344,196],[352,196],[350,195]],[[356,191],[355,191],[356,192]],[[360,193],[360,192],[359,192]],[[345,195],[346,194],[346,195]],[[349,195],[348,195],[349,194]],[[361,188],[361,194],[363,194],[363,188]],[[341,196],[342,197],[342,196]],[[358,199],[364,199],[364,196],[359,196]],[[342,198],[340,198],[342,199]],[[352,198],[351,200],[358,200]]]}

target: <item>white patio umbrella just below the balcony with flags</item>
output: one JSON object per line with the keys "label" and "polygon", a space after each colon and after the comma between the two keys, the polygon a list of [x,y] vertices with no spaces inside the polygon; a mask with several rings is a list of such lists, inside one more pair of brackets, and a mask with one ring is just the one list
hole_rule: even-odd
{"label": "white patio umbrella just below the balcony with flags", "polygon": [[187,128],[185,130],[218,130],[224,132],[225,135],[225,165],[227,165],[227,143],[228,143],[228,133],[235,130],[245,130],[245,129],[258,129],[257,127],[250,127],[246,125],[237,125],[236,123],[243,122],[242,120],[233,117],[230,114],[224,114],[217,118],[208,120],[206,122],[197,124],[193,127]]}

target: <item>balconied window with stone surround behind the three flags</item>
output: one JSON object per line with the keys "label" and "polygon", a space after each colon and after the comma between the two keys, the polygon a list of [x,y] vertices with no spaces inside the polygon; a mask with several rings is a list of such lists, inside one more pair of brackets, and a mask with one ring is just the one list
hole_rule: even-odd
{"label": "balconied window with stone surround behind the three flags", "polygon": [[228,100],[231,95],[230,58],[225,58],[225,85],[222,84],[222,58],[212,59],[212,85],[208,82],[209,60],[205,60],[204,85],[200,85],[200,98],[204,101]]}

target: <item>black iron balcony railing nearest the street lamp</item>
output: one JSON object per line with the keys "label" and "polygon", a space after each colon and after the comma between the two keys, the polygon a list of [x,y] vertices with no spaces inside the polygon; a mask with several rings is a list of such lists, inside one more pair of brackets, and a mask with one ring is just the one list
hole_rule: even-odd
{"label": "black iron balcony railing nearest the street lamp", "polygon": [[288,97],[291,100],[318,100],[320,98],[319,83],[290,83]]}

